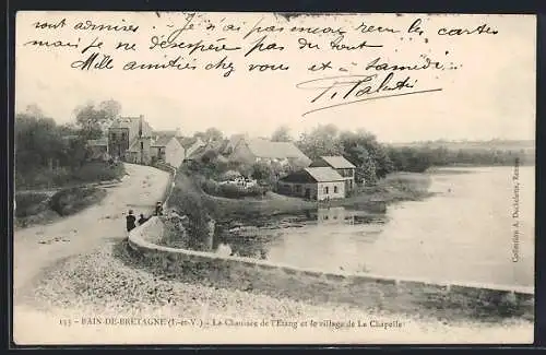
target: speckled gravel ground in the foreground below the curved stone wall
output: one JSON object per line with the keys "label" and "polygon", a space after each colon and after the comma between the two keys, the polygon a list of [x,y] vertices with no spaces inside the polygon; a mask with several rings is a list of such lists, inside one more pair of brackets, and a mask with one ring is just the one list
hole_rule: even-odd
{"label": "speckled gravel ground in the foreground below the curved stone wall", "polygon": [[[23,289],[21,306],[55,315],[63,311],[88,317],[169,316],[212,319],[257,320],[397,320],[403,329],[389,328],[388,342],[449,340],[452,342],[522,342],[532,341],[533,324],[523,320],[506,320],[496,324],[476,321],[448,322],[434,318],[393,315],[348,305],[307,303],[271,297],[257,292],[218,288],[199,282],[180,282],[131,264],[124,242],[112,241],[87,255],[60,260],[36,277],[33,287]],[[336,334],[334,334],[336,332]],[[395,333],[396,332],[396,333]],[[331,336],[340,331],[330,327]],[[330,335],[324,336],[330,336]],[[377,335],[378,333],[376,333]],[[396,335],[397,334],[397,335]],[[408,334],[413,334],[410,336]],[[531,336],[531,338],[530,338]],[[206,338],[211,340],[212,338]],[[312,338],[314,339],[314,338]],[[360,336],[366,341],[367,336]],[[321,338],[317,339],[318,341]],[[322,339],[325,340],[325,339]],[[245,340],[251,341],[252,340]],[[354,340],[353,340],[354,341]],[[384,342],[385,340],[381,340]]]}

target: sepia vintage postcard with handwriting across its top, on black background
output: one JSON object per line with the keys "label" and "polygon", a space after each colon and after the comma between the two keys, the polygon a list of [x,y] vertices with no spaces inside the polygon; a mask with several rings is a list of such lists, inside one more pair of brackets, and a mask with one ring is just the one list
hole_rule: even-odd
{"label": "sepia vintage postcard with handwriting across its top, on black background", "polygon": [[13,339],[532,343],[532,15],[16,15]]}

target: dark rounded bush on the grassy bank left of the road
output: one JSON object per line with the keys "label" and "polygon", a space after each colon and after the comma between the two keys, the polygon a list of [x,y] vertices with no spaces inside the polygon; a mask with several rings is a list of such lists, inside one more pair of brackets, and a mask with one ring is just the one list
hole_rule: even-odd
{"label": "dark rounded bush on the grassy bank left of the road", "polygon": [[60,215],[71,215],[99,202],[105,197],[105,189],[69,188],[54,194],[49,206]]}

